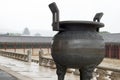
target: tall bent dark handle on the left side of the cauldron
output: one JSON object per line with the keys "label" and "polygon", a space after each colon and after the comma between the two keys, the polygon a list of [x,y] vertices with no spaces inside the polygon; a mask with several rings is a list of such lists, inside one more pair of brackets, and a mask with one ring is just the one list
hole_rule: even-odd
{"label": "tall bent dark handle on the left side of the cauldron", "polygon": [[55,2],[49,4],[49,8],[53,14],[53,30],[59,31],[59,9]]}

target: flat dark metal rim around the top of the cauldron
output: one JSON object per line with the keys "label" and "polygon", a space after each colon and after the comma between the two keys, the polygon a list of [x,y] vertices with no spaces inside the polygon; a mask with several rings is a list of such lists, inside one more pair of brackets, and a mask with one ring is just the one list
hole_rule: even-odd
{"label": "flat dark metal rim around the top of the cauldron", "polygon": [[101,22],[95,22],[95,21],[59,21],[60,26],[65,25],[91,25],[95,26],[97,28],[104,27],[104,24]]}

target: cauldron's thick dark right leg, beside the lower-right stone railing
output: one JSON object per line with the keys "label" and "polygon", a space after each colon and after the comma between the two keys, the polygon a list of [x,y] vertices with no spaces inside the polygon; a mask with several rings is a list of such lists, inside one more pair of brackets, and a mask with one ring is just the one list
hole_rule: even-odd
{"label": "cauldron's thick dark right leg, beside the lower-right stone railing", "polygon": [[80,71],[80,80],[90,80],[92,79],[92,73],[95,69],[94,65],[89,65],[79,69]]}

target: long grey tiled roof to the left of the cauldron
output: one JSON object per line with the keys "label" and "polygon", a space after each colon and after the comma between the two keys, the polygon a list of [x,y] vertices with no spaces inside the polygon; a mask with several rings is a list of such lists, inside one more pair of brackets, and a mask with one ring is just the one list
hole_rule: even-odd
{"label": "long grey tiled roof to the left of the cauldron", "polygon": [[51,41],[52,37],[0,35],[0,43],[50,43]]}

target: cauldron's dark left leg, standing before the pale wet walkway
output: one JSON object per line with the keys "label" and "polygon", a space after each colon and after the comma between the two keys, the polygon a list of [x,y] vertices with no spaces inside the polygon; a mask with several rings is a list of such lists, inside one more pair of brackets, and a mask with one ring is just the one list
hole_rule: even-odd
{"label": "cauldron's dark left leg, standing before the pale wet walkway", "polygon": [[58,80],[64,80],[64,76],[65,76],[67,68],[59,64],[56,64],[56,67],[57,67]]}

